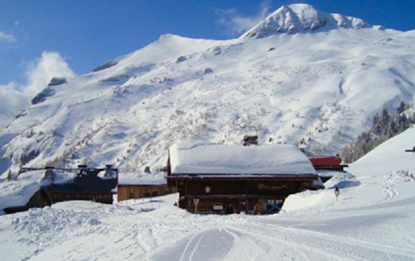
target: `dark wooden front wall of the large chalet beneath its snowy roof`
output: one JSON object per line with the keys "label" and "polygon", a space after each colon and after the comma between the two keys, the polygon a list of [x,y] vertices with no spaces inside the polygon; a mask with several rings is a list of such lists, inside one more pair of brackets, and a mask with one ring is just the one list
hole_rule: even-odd
{"label": "dark wooden front wall of the large chalet beneath its snowy roof", "polygon": [[255,178],[167,176],[169,183],[177,184],[179,207],[194,213],[194,199],[199,198],[197,213],[207,214],[223,214],[229,204],[232,204],[234,213],[252,214],[257,202],[261,202],[260,212],[265,214],[276,204],[281,207],[287,196],[304,191],[304,184],[316,179],[315,175]]}

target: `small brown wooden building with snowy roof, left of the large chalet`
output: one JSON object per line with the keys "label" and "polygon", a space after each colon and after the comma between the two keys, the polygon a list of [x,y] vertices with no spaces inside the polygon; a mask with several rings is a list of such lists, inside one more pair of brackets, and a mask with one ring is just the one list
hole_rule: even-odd
{"label": "small brown wooden building with snowy roof, left of the large chalet", "polygon": [[120,173],[117,200],[163,196],[176,193],[174,186],[167,186],[165,172]]}

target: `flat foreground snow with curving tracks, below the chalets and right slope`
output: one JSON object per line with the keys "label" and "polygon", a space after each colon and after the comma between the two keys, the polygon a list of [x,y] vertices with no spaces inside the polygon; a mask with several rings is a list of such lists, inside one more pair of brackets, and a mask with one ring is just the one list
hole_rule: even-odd
{"label": "flat foreground snow with curving tracks, below the chalets and right slope", "polygon": [[2,260],[415,260],[414,202],[271,216],[65,202],[2,216],[0,249]]}

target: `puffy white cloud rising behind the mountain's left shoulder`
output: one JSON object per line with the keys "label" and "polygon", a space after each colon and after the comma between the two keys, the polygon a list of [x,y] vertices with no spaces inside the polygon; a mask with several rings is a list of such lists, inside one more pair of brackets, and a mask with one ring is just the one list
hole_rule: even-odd
{"label": "puffy white cloud rising behind the mountain's left shoulder", "polygon": [[29,66],[26,76],[28,84],[22,91],[34,96],[42,91],[53,77],[74,77],[75,73],[59,53],[44,51],[42,57]]}

